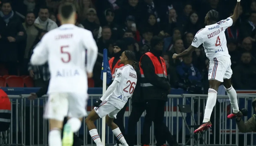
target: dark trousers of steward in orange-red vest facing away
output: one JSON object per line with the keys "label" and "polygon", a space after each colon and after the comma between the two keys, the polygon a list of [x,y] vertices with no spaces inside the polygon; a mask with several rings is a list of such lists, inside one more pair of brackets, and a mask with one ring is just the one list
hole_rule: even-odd
{"label": "dark trousers of steward in orange-red vest facing away", "polygon": [[157,145],[164,144],[163,138],[163,120],[165,113],[165,101],[149,100],[146,105],[146,115],[143,124],[143,135],[141,138],[142,145],[149,145],[150,142],[150,127],[154,122],[155,138],[158,141]]}

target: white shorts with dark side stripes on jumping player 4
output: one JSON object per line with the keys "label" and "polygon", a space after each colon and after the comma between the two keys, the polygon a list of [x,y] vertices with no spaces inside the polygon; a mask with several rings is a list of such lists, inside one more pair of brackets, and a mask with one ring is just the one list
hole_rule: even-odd
{"label": "white shorts with dark side stripes on jumping player 4", "polygon": [[231,60],[226,56],[219,56],[210,60],[208,70],[208,80],[217,80],[223,82],[223,79],[229,79],[232,76]]}

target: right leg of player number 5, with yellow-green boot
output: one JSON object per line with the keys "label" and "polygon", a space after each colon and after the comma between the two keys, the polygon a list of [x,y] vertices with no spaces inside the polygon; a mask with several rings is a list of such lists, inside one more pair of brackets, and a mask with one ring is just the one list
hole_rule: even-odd
{"label": "right leg of player number 5, with yellow-green boot", "polygon": [[77,132],[81,127],[81,121],[87,116],[85,110],[87,104],[87,94],[67,93],[69,101],[69,118],[63,127],[63,146],[73,145],[73,133]]}

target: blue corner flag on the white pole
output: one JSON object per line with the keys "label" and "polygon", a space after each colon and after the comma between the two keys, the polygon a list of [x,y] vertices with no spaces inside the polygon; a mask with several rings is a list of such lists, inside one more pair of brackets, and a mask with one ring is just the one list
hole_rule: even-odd
{"label": "blue corner flag on the white pole", "polygon": [[107,73],[107,84],[109,84],[112,80],[111,70],[108,63],[108,50],[103,50],[103,61],[102,61],[102,68],[101,68],[101,80],[103,80],[103,72]]}

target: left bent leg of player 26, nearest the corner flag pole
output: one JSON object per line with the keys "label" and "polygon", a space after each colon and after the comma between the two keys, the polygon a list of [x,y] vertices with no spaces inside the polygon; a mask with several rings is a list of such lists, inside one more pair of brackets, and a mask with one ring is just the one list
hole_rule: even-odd
{"label": "left bent leg of player 26, nearest the corner flag pole", "polygon": [[101,143],[101,139],[96,129],[96,126],[94,125],[94,121],[107,115],[109,111],[113,110],[111,108],[112,106],[110,105],[110,103],[108,103],[107,101],[102,101],[102,103],[98,107],[94,107],[94,109],[85,119],[85,123],[89,130],[89,133],[97,146],[102,146],[103,144]]}

